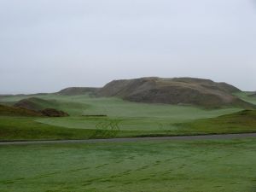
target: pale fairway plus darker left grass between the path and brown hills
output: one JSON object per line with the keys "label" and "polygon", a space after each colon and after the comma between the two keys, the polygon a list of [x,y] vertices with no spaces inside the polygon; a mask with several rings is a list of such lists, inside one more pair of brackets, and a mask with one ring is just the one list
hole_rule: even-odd
{"label": "pale fairway plus darker left grass between the path and brown hills", "polygon": [[[10,105],[26,97],[30,96],[1,97],[0,102]],[[54,102],[54,108],[65,111],[71,116],[64,118],[10,118],[0,116],[0,140],[224,133],[226,131],[222,131],[223,126],[208,129],[207,126],[201,124],[201,130],[199,130],[195,126],[186,126],[184,128],[179,124],[189,123],[196,119],[214,118],[241,110],[240,108],[206,110],[193,106],[125,102],[118,98],[92,98],[90,96],[49,94],[38,97]],[[42,102],[39,105],[41,108],[49,108],[49,102]],[[82,116],[90,114],[106,114],[108,117]],[[254,130],[256,130],[255,127],[250,127],[249,129],[249,131]],[[248,130],[244,130],[242,127],[239,130],[238,127],[233,132],[237,131]]]}

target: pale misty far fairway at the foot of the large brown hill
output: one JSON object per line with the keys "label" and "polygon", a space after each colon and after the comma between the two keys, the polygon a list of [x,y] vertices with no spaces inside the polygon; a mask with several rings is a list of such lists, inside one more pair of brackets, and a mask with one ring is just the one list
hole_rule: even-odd
{"label": "pale misty far fairway at the foot of the large brown hill", "polygon": [[[0,98],[2,103],[15,103],[30,96],[9,96]],[[38,96],[42,99],[55,100],[55,108],[63,110],[72,116],[87,114],[107,114],[110,117],[125,118],[172,118],[177,120],[198,119],[237,111],[237,108],[205,110],[191,106],[168,104],[147,104],[126,102],[119,98],[93,98],[84,96],[59,96],[54,94]],[[43,104],[43,103],[42,103]],[[49,106],[45,106],[49,108]]]}

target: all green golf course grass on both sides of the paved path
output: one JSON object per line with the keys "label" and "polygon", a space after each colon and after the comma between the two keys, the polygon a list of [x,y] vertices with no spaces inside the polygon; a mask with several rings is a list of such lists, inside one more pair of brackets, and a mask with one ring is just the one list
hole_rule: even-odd
{"label": "all green golf course grass on both sides of the paved path", "polygon": [[[239,96],[255,102],[246,93]],[[12,105],[26,97],[1,97],[0,102]],[[117,98],[39,97],[54,100],[56,109],[71,116],[21,117],[3,113],[0,140],[256,131],[255,111],[238,112],[239,108],[205,110]],[[82,116],[90,114],[108,117]],[[0,191],[254,192],[255,148],[255,139],[0,146]]]}

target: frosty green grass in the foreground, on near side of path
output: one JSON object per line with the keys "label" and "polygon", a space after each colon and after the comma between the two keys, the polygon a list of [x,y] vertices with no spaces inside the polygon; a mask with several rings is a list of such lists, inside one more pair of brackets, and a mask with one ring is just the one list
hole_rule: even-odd
{"label": "frosty green grass in the foreground, on near side of path", "polygon": [[253,192],[256,140],[3,146],[1,192]]}

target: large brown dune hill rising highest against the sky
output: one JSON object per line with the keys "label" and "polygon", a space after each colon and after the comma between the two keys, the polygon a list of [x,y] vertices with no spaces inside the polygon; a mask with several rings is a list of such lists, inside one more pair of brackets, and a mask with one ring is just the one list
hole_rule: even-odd
{"label": "large brown dune hill rising highest against the sky", "polygon": [[131,102],[192,104],[204,108],[254,108],[233,96],[241,91],[226,83],[209,79],[142,78],[114,80],[97,92],[97,96],[117,96]]}

